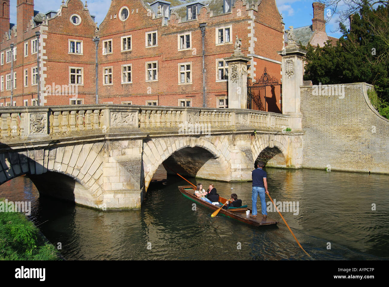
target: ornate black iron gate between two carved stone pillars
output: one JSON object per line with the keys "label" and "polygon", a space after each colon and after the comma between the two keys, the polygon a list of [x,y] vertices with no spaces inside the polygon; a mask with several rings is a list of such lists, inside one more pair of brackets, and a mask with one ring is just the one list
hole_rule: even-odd
{"label": "ornate black iron gate between two carved stone pillars", "polygon": [[[266,87],[275,86],[280,86],[280,111],[269,110],[268,99],[266,98]],[[267,73],[266,67],[260,79],[251,81],[251,78],[247,77],[247,108],[267,112],[282,112],[282,84],[278,82],[278,79]]]}

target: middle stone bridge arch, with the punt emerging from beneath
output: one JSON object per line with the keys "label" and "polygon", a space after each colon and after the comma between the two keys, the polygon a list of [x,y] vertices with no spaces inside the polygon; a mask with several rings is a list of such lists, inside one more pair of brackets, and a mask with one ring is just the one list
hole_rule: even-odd
{"label": "middle stone bridge arch, with the punt emerging from beneath", "polygon": [[153,138],[145,141],[143,147],[145,189],[147,190],[149,187],[159,165],[175,152],[190,147],[204,149],[217,160],[219,177],[215,179],[231,180],[230,139],[228,136]]}

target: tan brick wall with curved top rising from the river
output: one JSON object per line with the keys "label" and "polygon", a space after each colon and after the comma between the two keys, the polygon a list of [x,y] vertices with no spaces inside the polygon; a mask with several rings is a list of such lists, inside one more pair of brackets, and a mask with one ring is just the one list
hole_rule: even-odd
{"label": "tan brick wall with curved top rising from the river", "polygon": [[[332,91],[335,86],[328,87]],[[389,173],[389,120],[381,117],[368,100],[366,89],[373,86],[343,86],[344,97],[332,92],[315,95],[315,86],[300,88],[305,131],[303,166]]]}

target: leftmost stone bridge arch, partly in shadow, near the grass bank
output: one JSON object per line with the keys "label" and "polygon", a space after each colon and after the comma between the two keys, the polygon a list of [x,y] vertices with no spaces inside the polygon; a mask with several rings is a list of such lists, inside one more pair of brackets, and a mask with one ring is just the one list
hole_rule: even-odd
{"label": "leftmost stone bridge arch, partly in shadow, near the grass bank", "polygon": [[[0,154],[0,184],[27,175],[40,194],[102,208],[104,143],[8,151]],[[101,182],[101,184],[100,184]]]}

